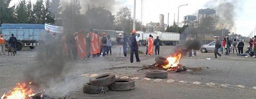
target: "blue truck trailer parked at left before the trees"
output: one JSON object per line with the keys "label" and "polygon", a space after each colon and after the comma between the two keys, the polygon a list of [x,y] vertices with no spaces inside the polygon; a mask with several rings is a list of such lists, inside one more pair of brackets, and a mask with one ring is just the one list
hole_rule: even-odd
{"label": "blue truck trailer parked at left before the trees", "polygon": [[[17,50],[21,50],[24,46],[34,49],[40,45],[40,42],[44,41],[46,34],[44,24],[2,24],[1,28],[6,42],[8,42],[11,34],[17,38]],[[5,46],[8,46],[8,43]]]}

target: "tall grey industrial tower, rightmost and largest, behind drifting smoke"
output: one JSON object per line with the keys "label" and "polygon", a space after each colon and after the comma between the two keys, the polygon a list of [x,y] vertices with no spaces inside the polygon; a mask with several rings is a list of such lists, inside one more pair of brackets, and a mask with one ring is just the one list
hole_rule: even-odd
{"label": "tall grey industrial tower, rightmost and largest, behind drifting smoke", "polygon": [[216,10],[199,9],[197,16],[197,28],[202,30],[216,30]]}

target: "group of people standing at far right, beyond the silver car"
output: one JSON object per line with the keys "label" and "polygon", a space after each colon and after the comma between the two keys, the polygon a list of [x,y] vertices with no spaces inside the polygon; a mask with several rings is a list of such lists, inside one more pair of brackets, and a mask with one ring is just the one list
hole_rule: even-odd
{"label": "group of people standing at far right, beyond the silver car", "polygon": [[[252,51],[252,47],[254,46],[254,51]],[[250,38],[249,40],[249,47],[247,48],[246,53],[244,52],[244,42],[243,40],[237,40],[236,38],[233,39],[233,41],[231,41],[229,39],[229,37],[224,38],[224,40],[222,40],[222,42],[218,39],[218,37],[216,37],[216,43],[215,43],[215,50],[214,50],[214,58],[217,58],[217,54],[218,56],[221,57],[221,54],[219,52],[221,52],[222,54],[225,55],[230,55],[230,47],[232,48],[232,52],[234,54],[234,52],[236,51],[238,56],[253,56],[255,57],[256,55],[256,36],[254,36],[254,40],[252,40]],[[220,51],[221,50],[221,51]],[[238,50],[238,52],[237,52]]]}

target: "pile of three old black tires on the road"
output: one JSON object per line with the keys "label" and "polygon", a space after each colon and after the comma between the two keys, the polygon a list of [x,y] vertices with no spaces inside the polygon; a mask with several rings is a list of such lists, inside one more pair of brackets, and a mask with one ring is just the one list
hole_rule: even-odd
{"label": "pile of three old black tires on the road", "polygon": [[114,74],[105,73],[98,75],[83,85],[83,92],[88,94],[100,94],[102,91],[128,91],[133,90],[135,82],[131,79],[116,78]]}

